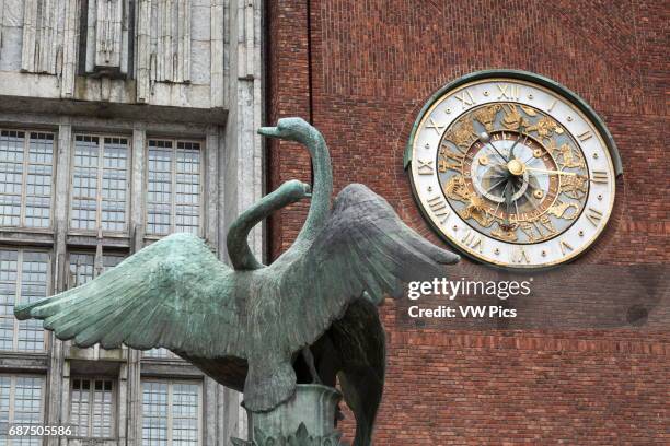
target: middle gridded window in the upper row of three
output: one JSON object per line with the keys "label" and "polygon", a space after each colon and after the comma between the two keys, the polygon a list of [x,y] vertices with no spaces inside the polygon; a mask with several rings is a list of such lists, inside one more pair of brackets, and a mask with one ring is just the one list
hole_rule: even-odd
{"label": "middle gridded window in the upper row of three", "polygon": [[124,232],[127,221],[128,139],[74,137],[70,227]]}

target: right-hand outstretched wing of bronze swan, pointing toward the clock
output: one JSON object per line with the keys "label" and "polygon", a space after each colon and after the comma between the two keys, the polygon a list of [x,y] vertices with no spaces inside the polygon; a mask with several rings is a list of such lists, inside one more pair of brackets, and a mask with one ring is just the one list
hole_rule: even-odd
{"label": "right-hand outstretched wing of bronze swan, pointing toward the clock", "polygon": [[291,348],[300,348],[319,338],[363,292],[380,304],[384,293],[400,297],[404,283],[442,278],[443,266],[458,261],[459,256],[405,225],[383,198],[366,186],[349,185],[308,251],[281,275],[278,292],[291,298],[284,301],[278,316],[301,321],[289,330]]}

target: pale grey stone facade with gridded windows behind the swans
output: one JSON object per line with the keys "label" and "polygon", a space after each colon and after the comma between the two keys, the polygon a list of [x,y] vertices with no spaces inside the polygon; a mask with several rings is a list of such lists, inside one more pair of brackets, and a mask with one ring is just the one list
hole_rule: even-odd
{"label": "pale grey stone facade with gridded windows behind the swans", "polygon": [[[254,131],[264,103],[262,11],[262,0],[0,0],[0,163],[7,181],[0,250],[8,316],[15,300],[28,298],[27,285],[14,290],[20,283],[34,280],[43,294],[63,291],[171,231],[197,232],[227,259],[228,226],[264,186]],[[31,204],[35,190],[46,200],[42,208]],[[261,228],[251,246],[262,255]],[[47,260],[28,261],[33,251]],[[46,265],[41,275],[30,270],[35,265]],[[165,352],[82,350],[3,320],[13,327],[3,332],[10,347],[0,352],[0,379],[9,389],[0,391],[0,406],[11,408],[10,425],[72,424],[74,400],[77,411],[95,416],[95,402],[82,406],[81,386],[89,378],[91,386],[111,383],[111,431],[31,444],[155,439],[160,432],[149,432],[146,413],[153,390],[146,383],[169,389],[170,424],[161,444],[228,445],[246,433],[240,396]],[[28,351],[21,348],[26,332],[34,338]],[[37,383],[32,414],[21,409],[27,376]],[[186,404],[177,398],[186,395],[181,385],[197,389],[187,395],[197,400],[195,443],[180,441],[175,427],[178,416],[190,416],[177,414]],[[100,386],[91,387],[91,398],[104,397],[107,384]],[[153,414],[159,424],[160,412]],[[0,435],[7,436],[2,421]]]}

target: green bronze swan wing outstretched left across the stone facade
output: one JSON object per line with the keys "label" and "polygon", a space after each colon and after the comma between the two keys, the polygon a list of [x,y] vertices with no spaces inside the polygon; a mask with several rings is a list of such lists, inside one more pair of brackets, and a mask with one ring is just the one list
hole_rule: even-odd
{"label": "green bronze swan wing outstretched left across the stone facade", "polygon": [[15,315],[44,319],[56,337],[80,347],[244,357],[239,312],[223,292],[228,274],[200,238],[174,234],[82,286],[18,306]]}

